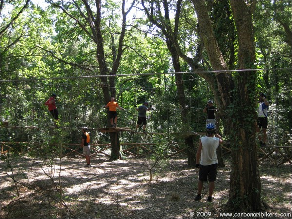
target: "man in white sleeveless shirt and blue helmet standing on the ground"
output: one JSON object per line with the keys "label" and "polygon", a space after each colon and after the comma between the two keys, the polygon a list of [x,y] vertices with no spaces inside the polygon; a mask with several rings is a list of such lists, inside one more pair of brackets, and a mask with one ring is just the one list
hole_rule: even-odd
{"label": "man in white sleeveless shirt and blue helmet standing on the ground", "polygon": [[208,179],[209,196],[207,201],[211,202],[217,176],[217,147],[223,142],[223,140],[219,134],[216,134],[214,125],[212,123],[207,124],[206,133],[206,136],[200,138],[199,147],[196,153],[196,167],[200,168],[200,170],[198,193],[195,197],[195,201],[201,200],[201,192],[203,190],[204,181],[207,181]]}

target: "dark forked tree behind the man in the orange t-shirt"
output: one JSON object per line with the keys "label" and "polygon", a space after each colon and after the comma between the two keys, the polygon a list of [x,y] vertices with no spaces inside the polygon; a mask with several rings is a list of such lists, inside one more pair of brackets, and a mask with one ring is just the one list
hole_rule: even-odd
{"label": "dark forked tree behind the man in the orange t-shirt", "polygon": [[[119,3],[119,2],[117,2]],[[91,38],[92,42],[96,46],[96,59],[98,62],[98,73],[103,76],[100,78],[103,83],[102,91],[104,96],[104,104],[107,104],[110,101],[111,96],[116,96],[116,88],[115,88],[115,77],[117,74],[118,67],[120,65],[122,53],[124,51],[124,37],[126,33],[127,27],[127,14],[130,12],[132,7],[134,6],[135,1],[132,2],[128,10],[125,9],[126,1],[122,1],[121,13],[122,13],[122,21],[121,28],[119,30],[119,37],[114,37],[116,33],[112,33],[110,28],[106,30],[105,21],[102,19],[105,17],[103,15],[102,9],[106,9],[105,5],[102,4],[102,1],[97,0],[95,2],[92,1],[72,1],[72,2],[51,2],[51,4],[55,7],[60,8],[63,13],[72,18],[82,29],[82,31]],[[95,11],[93,11],[93,8]],[[85,9],[85,11],[84,11]],[[109,22],[110,23],[110,22]],[[105,52],[105,41],[104,35],[108,33],[111,36],[111,42],[107,42],[111,44],[111,56],[110,59],[107,59],[107,55]],[[118,38],[118,43],[115,39]],[[97,73],[97,74],[98,74]],[[110,121],[108,120],[108,126],[110,126]],[[110,133],[111,138],[111,148],[112,154],[111,159],[115,160],[120,158],[120,143],[119,136],[117,132]]]}

